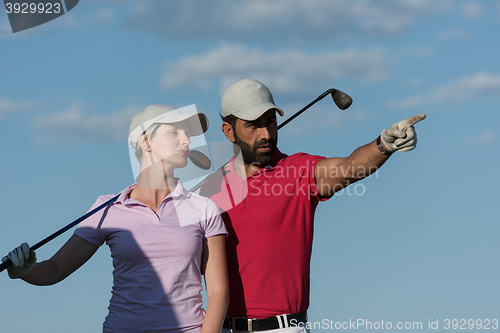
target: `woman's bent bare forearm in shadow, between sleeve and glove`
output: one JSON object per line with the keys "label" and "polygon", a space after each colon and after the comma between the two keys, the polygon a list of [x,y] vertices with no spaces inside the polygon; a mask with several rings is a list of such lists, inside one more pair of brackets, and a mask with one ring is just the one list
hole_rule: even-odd
{"label": "woman's bent bare forearm in shadow, between sleeve and glove", "polygon": [[99,247],[73,235],[49,260],[36,263],[24,281],[37,286],[58,283],[89,260]]}

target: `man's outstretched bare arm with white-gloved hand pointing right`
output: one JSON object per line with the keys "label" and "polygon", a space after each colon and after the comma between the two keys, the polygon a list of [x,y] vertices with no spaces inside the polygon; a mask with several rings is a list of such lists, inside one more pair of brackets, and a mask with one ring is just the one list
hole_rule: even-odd
{"label": "man's outstretched bare arm with white-gloved hand pointing right", "polygon": [[390,126],[379,138],[359,147],[349,157],[319,161],[314,170],[319,194],[330,197],[377,171],[393,152],[415,149],[417,134],[413,125],[423,119],[425,114],[419,114]]}

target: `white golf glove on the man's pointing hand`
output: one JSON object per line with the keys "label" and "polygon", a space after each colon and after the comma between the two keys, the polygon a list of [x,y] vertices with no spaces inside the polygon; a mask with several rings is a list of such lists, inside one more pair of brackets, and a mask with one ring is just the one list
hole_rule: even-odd
{"label": "white golf glove on the man's pointing hand", "polygon": [[417,146],[417,133],[413,125],[425,119],[425,114],[410,117],[382,131],[380,139],[390,153],[410,151]]}

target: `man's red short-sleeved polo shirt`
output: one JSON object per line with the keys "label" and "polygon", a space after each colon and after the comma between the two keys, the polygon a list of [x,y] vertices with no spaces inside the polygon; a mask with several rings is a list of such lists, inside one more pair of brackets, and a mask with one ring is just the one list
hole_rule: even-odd
{"label": "man's red short-sleeved polo shirt", "polygon": [[200,194],[223,209],[230,303],[229,317],[266,318],[306,311],[314,211],[314,168],[324,159],[277,151],[271,167],[247,179],[231,161]]}

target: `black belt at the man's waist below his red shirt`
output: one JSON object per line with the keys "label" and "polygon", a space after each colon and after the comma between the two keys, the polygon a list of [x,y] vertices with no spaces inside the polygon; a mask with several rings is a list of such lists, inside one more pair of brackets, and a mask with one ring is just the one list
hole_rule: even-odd
{"label": "black belt at the man's waist below his red shirt", "polygon": [[267,331],[278,328],[297,327],[299,323],[307,322],[307,312],[280,315],[264,319],[252,319],[246,317],[228,317],[224,320],[222,327],[233,331]]}

